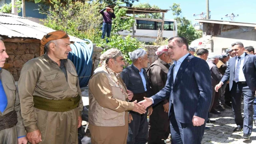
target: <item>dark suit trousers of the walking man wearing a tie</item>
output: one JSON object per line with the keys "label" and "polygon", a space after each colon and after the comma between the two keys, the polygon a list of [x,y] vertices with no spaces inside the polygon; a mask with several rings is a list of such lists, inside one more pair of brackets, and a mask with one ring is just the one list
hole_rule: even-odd
{"label": "dark suit trousers of the walking man wearing a tie", "polygon": [[[244,95],[244,119],[242,118],[241,114],[242,94]],[[233,81],[231,95],[232,109],[236,125],[243,127],[244,134],[251,135],[253,124],[253,102],[255,92],[252,92],[252,90],[250,90],[249,86],[246,83],[238,84]]]}

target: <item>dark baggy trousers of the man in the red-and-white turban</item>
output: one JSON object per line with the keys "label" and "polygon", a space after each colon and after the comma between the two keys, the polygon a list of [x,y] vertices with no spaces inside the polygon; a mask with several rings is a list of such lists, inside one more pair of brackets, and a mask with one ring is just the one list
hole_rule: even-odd
{"label": "dark baggy trousers of the man in the red-and-white turban", "polygon": [[164,112],[162,102],[153,106],[153,113],[149,117],[148,144],[165,144],[170,134],[170,120],[168,112]]}

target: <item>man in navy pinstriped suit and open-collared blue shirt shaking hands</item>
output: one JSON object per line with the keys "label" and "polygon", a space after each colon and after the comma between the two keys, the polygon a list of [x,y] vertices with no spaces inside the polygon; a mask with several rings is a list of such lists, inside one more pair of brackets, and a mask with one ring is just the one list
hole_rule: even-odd
{"label": "man in navy pinstriped suit and open-collared blue shirt shaking hands", "polygon": [[169,68],[166,85],[139,104],[148,107],[170,97],[172,144],[200,144],[212,100],[210,69],[205,60],[189,54],[186,38],[170,38],[168,47],[174,64]]}

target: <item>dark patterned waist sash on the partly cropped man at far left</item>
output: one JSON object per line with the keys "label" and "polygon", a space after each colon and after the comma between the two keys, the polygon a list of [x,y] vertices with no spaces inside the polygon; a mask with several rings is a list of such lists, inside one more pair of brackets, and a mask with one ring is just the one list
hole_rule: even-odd
{"label": "dark patterned waist sash on the partly cropped man at far left", "polygon": [[17,113],[15,110],[0,116],[0,130],[4,130],[6,128],[12,128],[18,122]]}

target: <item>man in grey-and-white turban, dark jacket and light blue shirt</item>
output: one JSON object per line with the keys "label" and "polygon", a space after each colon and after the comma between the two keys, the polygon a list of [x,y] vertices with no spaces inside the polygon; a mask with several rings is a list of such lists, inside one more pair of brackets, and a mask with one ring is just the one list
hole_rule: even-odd
{"label": "man in grey-and-white turban, dark jacket and light blue shirt", "polygon": [[[152,96],[150,81],[144,68],[148,66],[148,54],[146,50],[138,48],[129,52],[132,64],[127,66],[121,72],[121,78],[127,89],[134,93],[133,101],[140,102],[143,97]],[[153,108],[148,109],[148,116],[152,114]],[[146,114],[130,112],[129,118],[132,120],[129,124],[128,144],[146,144],[148,142],[148,118]]]}

